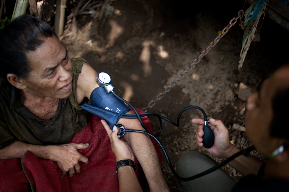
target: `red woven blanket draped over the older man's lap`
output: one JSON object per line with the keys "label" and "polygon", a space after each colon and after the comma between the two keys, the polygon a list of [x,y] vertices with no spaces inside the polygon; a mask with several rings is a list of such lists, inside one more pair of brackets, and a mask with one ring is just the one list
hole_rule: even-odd
{"label": "red woven blanket draped over the older man's lap", "polygon": [[[138,110],[139,112],[142,112]],[[142,118],[144,125],[152,133],[147,117]],[[90,115],[88,124],[81,132],[74,135],[68,143],[89,143],[86,149],[78,150],[88,157],[89,163],[79,161],[81,172],[75,173],[72,178],[66,174],[60,178],[61,170],[51,160],[38,159],[27,151],[22,159],[3,160],[0,164],[0,191],[119,191],[118,176],[115,172],[116,161],[112,152],[110,140],[96,115]],[[159,161],[162,155],[157,143],[152,139]],[[138,173],[138,161],[136,175]]]}

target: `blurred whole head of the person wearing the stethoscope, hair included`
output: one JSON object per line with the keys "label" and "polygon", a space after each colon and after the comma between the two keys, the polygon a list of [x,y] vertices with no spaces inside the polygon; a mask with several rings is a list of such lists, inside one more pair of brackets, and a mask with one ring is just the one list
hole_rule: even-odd
{"label": "blurred whole head of the person wearing the stethoscope, hair included", "polygon": [[[246,112],[246,133],[252,144],[268,156],[281,145],[289,144],[286,119],[289,115],[289,64],[266,79],[260,92],[249,96]],[[289,160],[286,149],[279,158]]]}

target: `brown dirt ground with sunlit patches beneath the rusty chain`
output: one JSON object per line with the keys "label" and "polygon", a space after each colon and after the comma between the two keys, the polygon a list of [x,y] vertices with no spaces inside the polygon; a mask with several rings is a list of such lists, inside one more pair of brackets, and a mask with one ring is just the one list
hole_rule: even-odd
{"label": "brown dirt ground with sunlit patches beneath the rusty chain", "polygon": [[[142,109],[164,91],[201,51],[242,9],[244,1],[198,2],[172,0],[118,0],[111,4],[114,13],[104,20],[89,15],[78,16],[80,30],[70,31],[62,40],[71,57],[82,57],[98,72],[112,77],[115,92]],[[228,8],[228,5],[230,5]],[[247,3],[244,10],[249,7]],[[161,37],[162,36],[162,37]],[[230,132],[230,140],[241,149],[251,146],[245,132],[235,130],[234,123],[244,124],[239,112],[246,102],[233,92],[240,82],[255,90],[257,85],[288,62],[288,32],[265,17],[261,41],[252,43],[243,68],[238,70],[243,31],[238,23],[210,50],[162,100],[148,110],[176,122],[178,113],[189,105],[205,110],[208,117],[221,119]],[[192,118],[203,118],[194,109],[186,111],[175,127],[163,122],[158,137],[173,164],[186,151],[198,150],[195,140],[197,126]],[[149,117],[155,132],[158,120]],[[262,158],[262,154],[253,152]],[[208,153],[207,153],[208,154]],[[213,157],[218,163],[220,159]],[[179,191],[167,162],[161,164],[171,191]],[[223,169],[238,181],[241,175],[229,165]],[[143,182],[145,191],[148,186]]]}

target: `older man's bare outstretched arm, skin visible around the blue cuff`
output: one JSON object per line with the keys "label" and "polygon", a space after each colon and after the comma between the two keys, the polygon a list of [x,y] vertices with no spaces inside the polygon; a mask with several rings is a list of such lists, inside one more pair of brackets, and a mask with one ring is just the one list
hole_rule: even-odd
{"label": "older man's bare outstretched arm, skin visible around the blue cuff", "polygon": [[[77,103],[87,97],[90,99],[91,92],[99,87],[96,83],[97,72],[88,64],[84,63],[77,80]],[[133,113],[129,111],[128,113]],[[144,130],[138,119],[121,118],[116,124],[122,124],[126,129]],[[129,143],[140,162],[151,191],[169,191],[153,143],[148,136],[140,133],[127,133],[124,139]]]}

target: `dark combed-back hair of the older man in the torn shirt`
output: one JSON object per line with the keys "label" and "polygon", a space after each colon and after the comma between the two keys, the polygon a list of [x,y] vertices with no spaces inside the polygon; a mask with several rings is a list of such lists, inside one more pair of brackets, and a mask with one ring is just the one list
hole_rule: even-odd
{"label": "dark combed-back hair of the older man in the torn shirt", "polygon": [[57,35],[44,21],[30,15],[20,16],[0,30],[0,84],[11,85],[7,74],[25,78],[31,71],[26,53],[35,51],[45,37]]}

